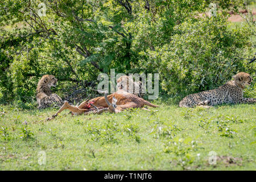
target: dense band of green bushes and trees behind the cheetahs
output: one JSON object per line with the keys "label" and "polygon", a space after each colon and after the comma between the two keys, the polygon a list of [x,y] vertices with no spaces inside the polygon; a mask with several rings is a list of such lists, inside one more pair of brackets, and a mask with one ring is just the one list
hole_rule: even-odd
{"label": "dense band of green bushes and trees behind the cheetahs", "polygon": [[[41,2],[46,16],[39,16]],[[204,14],[210,2],[217,5],[216,16]],[[59,79],[55,92],[69,100],[79,89],[83,98],[90,96],[98,73],[110,68],[159,73],[160,92],[174,98],[216,88],[239,71],[255,77],[255,63],[240,59],[255,52],[253,16],[228,22],[229,11],[249,10],[253,3],[1,1],[1,101],[34,107],[36,83],[45,74]]]}

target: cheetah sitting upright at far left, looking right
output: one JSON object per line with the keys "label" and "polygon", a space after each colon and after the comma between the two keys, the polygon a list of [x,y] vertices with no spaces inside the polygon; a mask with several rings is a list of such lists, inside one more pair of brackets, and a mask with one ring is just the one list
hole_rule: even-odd
{"label": "cheetah sitting upright at far left, looking right", "polygon": [[61,106],[63,101],[56,94],[52,93],[51,86],[57,86],[57,79],[53,75],[44,75],[38,82],[36,89],[36,102],[38,109],[45,109],[51,106]]}

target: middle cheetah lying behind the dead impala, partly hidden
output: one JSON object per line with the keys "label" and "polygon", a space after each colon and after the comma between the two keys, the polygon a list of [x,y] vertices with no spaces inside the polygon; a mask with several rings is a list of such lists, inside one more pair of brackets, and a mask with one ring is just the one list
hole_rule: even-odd
{"label": "middle cheetah lying behind the dead impala, partly hidden", "polygon": [[[133,84],[133,90],[129,90],[129,85]],[[131,76],[121,76],[117,80],[117,88],[118,90],[125,90],[126,92],[132,93],[136,96],[142,97],[143,92],[143,83],[141,81],[135,82],[133,81],[133,77]]]}

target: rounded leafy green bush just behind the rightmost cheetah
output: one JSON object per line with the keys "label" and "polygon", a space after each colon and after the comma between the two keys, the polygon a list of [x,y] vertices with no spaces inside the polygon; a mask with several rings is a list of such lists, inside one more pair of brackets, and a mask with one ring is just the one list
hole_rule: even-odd
{"label": "rounded leafy green bush just behind the rightmost cheetah", "polygon": [[[250,27],[228,28],[226,18],[188,20],[174,27],[171,42],[141,52],[139,64],[160,73],[162,89],[168,94],[193,93],[213,89],[237,72],[255,73],[247,65],[243,50],[250,47]],[[249,51],[253,55],[253,49]],[[144,58],[146,57],[146,59]]]}

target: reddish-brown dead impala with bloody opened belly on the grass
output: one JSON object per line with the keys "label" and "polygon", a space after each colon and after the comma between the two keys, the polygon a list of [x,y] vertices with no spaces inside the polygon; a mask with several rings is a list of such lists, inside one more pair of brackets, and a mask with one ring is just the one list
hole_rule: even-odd
{"label": "reddish-brown dead impala with bloody opened belly on the grass", "polygon": [[[144,108],[144,106],[158,107],[157,105],[151,104],[143,98],[126,92],[125,90],[118,90],[110,95],[108,95],[107,92],[101,91],[101,93],[105,93],[105,96],[86,100],[79,106],[72,106],[69,105],[67,101],[64,102],[63,106],[60,107],[57,113],[52,115],[52,118],[56,117],[57,114],[61,113],[61,111],[65,109],[70,110],[72,115],[79,115],[88,113],[101,114],[104,111],[109,111],[110,113],[119,113],[125,109],[142,107],[142,109],[148,110]],[[48,118],[47,120],[52,118]]]}

